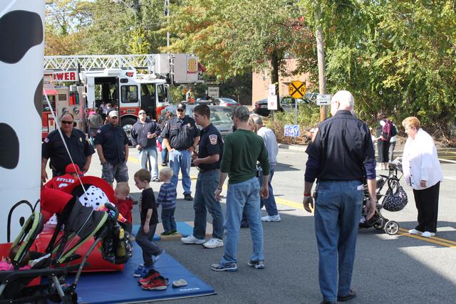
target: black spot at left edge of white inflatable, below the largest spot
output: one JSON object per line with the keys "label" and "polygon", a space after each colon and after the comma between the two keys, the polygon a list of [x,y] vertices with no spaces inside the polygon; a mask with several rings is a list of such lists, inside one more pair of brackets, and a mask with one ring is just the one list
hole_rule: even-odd
{"label": "black spot at left edge of white inflatable, below the largest spot", "polygon": [[14,169],[19,163],[19,138],[10,125],[0,122],[0,167]]}

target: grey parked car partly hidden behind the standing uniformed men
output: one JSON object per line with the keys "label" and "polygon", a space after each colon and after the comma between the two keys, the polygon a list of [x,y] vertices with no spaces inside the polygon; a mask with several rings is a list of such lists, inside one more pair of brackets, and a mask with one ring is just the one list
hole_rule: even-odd
{"label": "grey parked car partly hidden behind the standing uniformed men", "polygon": [[[233,125],[233,108],[229,107],[222,107],[220,105],[208,105],[211,110],[211,122],[214,127],[217,127],[222,138],[227,137],[229,133],[232,133],[232,125]],[[188,104],[187,108],[185,109],[185,115],[189,115],[193,117],[193,108],[195,108],[195,104]],[[162,110],[160,113],[160,120],[165,117],[167,112],[172,112],[173,114],[176,113],[176,105],[168,105],[166,108]]]}

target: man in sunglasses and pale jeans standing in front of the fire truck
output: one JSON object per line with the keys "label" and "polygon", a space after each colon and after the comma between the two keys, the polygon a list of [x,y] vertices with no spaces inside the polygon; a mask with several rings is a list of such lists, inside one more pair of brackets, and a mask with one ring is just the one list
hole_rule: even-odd
{"label": "man in sunglasses and pale jeans standing in front of the fire truck", "polygon": [[145,110],[140,110],[138,122],[131,130],[131,143],[138,149],[138,156],[142,169],[147,170],[147,159],[150,162],[150,175],[152,182],[160,182],[158,179],[157,163],[157,136],[160,135],[160,127],[157,122],[147,118]]}

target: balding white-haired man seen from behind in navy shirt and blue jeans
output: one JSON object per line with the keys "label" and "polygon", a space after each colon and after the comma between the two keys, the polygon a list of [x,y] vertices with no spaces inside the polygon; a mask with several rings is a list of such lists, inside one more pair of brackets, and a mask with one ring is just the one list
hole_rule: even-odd
{"label": "balding white-haired man seen from behind in navy shirt and blue jeans", "polygon": [[312,185],[317,178],[315,234],[318,245],[318,281],[323,304],[351,300],[351,276],[356,236],[363,203],[363,179],[371,198],[366,219],[371,219],[375,196],[375,153],[368,126],[351,114],[353,95],[338,91],[331,99],[331,118],[321,122],[314,142],[307,147],[304,209],[314,209]]}

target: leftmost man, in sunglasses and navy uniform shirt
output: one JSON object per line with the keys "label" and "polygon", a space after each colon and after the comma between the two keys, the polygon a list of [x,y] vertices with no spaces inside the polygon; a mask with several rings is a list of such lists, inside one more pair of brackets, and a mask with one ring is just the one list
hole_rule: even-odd
{"label": "leftmost man, in sunglasses and navy uniform shirt", "polygon": [[41,179],[46,182],[46,164],[51,159],[52,177],[59,177],[65,174],[65,168],[71,164],[70,155],[68,154],[63,140],[68,147],[73,162],[86,173],[90,167],[92,154],[95,153],[93,147],[86,140],[86,134],[81,130],[73,127],[74,117],[71,113],[64,113],[60,118],[61,132],[63,139],[58,130],[53,130],[44,139],[41,146]]}

